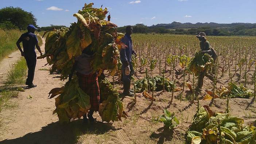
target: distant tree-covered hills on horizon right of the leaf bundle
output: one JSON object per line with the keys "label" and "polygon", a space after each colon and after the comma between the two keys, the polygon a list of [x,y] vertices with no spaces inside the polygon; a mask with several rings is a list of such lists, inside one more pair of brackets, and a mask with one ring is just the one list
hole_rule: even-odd
{"label": "distant tree-covered hills on horizon right of the leaf bundle", "polygon": [[[118,32],[125,32],[124,27],[117,27]],[[214,36],[256,36],[256,23],[179,23],[156,24],[146,26],[136,24],[133,26],[134,33],[141,34],[178,34],[178,35],[197,35],[199,32],[205,32],[206,35]]]}

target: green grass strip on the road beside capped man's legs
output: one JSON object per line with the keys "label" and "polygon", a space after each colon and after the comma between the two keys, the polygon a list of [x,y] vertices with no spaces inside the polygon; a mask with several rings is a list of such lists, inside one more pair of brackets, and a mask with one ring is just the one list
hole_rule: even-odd
{"label": "green grass strip on the road beside capped man's legs", "polygon": [[5,84],[13,85],[25,82],[24,76],[27,73],[27,63],[24,58],[20,59],[7,73],[7,81]]}

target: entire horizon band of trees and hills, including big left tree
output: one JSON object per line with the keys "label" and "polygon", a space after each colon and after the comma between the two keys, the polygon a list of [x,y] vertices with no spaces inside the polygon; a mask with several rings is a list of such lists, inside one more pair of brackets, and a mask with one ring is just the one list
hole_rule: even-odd
{"label": "entire horizon band of trees and hills, including big left tree", "polygon": [[[27,30],[28,24],[36,24],[36,17],[32,12],[24,11],[20,7],[5,7],[0,9],[0,28],[1,29],[19,29]],[[48,27],[38,27],[38,31],[49,31],[59,29],[66,26],[50,25]],[[117,27],[118,32],[125,32],[124,27]],[[136,24],[133,26],[134,33],[141,34],[179,34],[179,35],[196,35],[199,32],[205,32],[206,35],[214,36],[256,36],[256,24],[251,23],[179,23],[172,22],[171,24],[157,24],[146,26],[144,24]]]}

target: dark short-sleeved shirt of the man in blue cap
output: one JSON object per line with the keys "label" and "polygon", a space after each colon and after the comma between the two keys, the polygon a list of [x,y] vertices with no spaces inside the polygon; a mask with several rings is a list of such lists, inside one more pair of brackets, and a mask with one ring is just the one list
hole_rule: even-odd
{"label": "dark short-sleeved shirt of the man in blue cap", "polygon": [[23,51],[25,56],[36,57],[35,44],[38,43],[38,39],[32,32],[25,32],[19,38],[22,41]]}

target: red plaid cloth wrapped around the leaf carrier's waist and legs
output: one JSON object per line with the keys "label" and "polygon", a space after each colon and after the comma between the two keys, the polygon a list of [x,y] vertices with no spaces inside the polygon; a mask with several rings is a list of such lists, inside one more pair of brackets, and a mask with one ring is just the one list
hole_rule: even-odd
{"label": "red plaid cloth wrapped around the leaf carrier's waist and legs", "polygon": [[91,110],[97,112],[100,106],[100,88],[97,73],[84,75],[77,73],[80,88],[90,96]]}

